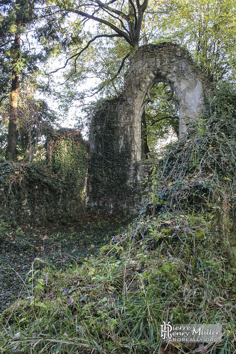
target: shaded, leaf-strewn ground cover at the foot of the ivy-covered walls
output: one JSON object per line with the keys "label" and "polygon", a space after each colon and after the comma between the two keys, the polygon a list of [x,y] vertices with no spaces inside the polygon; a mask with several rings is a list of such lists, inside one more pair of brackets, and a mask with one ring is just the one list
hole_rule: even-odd
{"label": "shaded, leaf-strewn ground cover at the foot of the ivy-covered walls", "polygon": [[79,257],[90,257],[110,241],[114,230],[126,225],[125,218],[98,220],[95,215],[84,215],[77,223],[67,225],[8,225],[0,221],[0,312],[16,301],[26,274],[34,262],[41,271],[43,260],[57,269],[80,263]]}

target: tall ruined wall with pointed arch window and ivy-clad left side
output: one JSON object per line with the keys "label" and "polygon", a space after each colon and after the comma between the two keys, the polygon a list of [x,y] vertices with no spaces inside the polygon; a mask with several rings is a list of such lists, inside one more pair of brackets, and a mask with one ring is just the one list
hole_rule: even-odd
{"label": "tall ruined wall with pointed arch window and ivy-clad left side", "polygon": [[[155,102],[159,87],[164,90],[162,111],[160,96],[157,95]],[[184,137],[188,134],[189,122],[197,121],[205,112],[211,89],[186,49],[173,43],[138,48],[130,58],[123,92],[101,105],[94,114],[88,179],[91,208],[114,211],[138,203],[137,180],[145,180],[149,174],[150,161],[144,160],[147,153],[143,146],[145,124],[156,129],[161,120],[167,122],[167,118],[163,119],[166,113],[166,116],[176,117],[175,122],[169,121],[169,126],[172,125],[180,138]],[[155,108],[157,103],[159,111]],[[167,109],[169,104],[172,104],[171,112]],[[143,118],[143,114],[148,113],[149,121],[148,117]],[[157,122],[158,119],[161,120]],[[149,150],[153,147],[151,140],[152,137],[147,137]]]}

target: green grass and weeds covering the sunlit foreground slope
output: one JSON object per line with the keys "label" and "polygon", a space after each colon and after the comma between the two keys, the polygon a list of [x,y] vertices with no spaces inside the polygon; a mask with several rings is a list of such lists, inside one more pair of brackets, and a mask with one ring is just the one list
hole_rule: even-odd
{"label": "green grass and weeds covering the sunlit foreground slope", "polygon": [[39,278],[33,263],[28,298],[2,314],[2,353],[162,353],[166,320],[221,323],[223,341],[207,353],[234,353],[236,253],[199,218],[140,217],[103,255],[64,272],[45,264]]}

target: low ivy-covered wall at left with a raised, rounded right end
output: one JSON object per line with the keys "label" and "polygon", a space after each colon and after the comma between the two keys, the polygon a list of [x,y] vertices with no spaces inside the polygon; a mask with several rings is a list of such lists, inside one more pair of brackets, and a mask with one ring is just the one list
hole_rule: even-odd
{"label": "low ivy-covered wall at left with a raised, rounded right end", "polygon": [[0,160],[0,216],[5,221],[67,222],[85,210],[88,154],[81,134],[56,131],[47,151],[42,163]]}

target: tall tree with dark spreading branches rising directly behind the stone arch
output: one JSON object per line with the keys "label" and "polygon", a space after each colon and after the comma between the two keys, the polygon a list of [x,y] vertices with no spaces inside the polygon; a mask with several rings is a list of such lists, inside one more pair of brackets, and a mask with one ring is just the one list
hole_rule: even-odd
{"label": "tall tree with dark spreading branches rising directly behind the stone arch", "polygon": [[[158,22],[157,16],[153,16],[153,11],[155,14],[161,13],[161,6],[161,2],[151,0],[143,0],[142,3],[139,0],[123,2],[74,0],[69,3],[56,0],[44,9],[44,16],[50,11],[50,16],[55,18],[61,14],[63,18],[73,19],[74,23],[78,21],[74,32],[79,29],[81,41],[79,43],[73,41],[70,51],[72,55],[67,56],[62,67],[53,70],[55,72],[69,66],[69,70],[64,74],[67,90],[66,94],[63,92],[62,99],[65,107],[68,107],[68,101],[78,98],[75,85],[79,79],[84,79],[81,72],[87,73],[88,76],[98,76],[100,79],[100,84],[94,88],[92,95],[100,92],[103,97],[108,98],[120,92],[123,80],[119,74],[126,67],[126,59],[133,55],[140,44],[147,44],[155,37]],[[97,23],[94,32],[89,32],[86,26],[82,27],[87,21]],[[57,32],[55,27],[53,31]],[[48,47],[52,45],[52,36],[48,36],[47,24],[39,30],[39,35],[44,38],[44,45]],[[49,38],[48,43],[45,37]],[[53,46],[57,41],[58,37],[54,36]],[[59,42],[58,44],[60,45]],[[84,63],[89,64],[86,67]]]}

